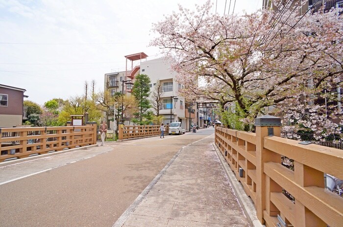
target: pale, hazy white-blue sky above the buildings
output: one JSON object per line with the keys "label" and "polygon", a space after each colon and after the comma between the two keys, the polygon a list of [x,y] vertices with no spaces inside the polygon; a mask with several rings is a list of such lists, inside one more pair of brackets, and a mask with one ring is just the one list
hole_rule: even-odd
{"label": "pale, hazy white-blue sky above the buildings", "polygon": [[[125,55],[145,52],[151,24],[206,0],[0,0],[0,84],[26,89],[44,104],[83,93],[84,81],[103,90],[105,73],[123,71]],[[225,0],[211,0],[224,13]],[[230,0],[226,0],[226,14]],[[232,13],[234,0],[231,0]],[[237,0],[235,13],[255,11],[262,0]]]}

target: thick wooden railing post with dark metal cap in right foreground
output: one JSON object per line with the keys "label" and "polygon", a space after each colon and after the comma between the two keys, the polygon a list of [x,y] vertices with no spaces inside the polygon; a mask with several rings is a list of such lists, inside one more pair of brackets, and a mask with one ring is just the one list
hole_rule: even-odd
{"label": "thick wooden railing post with dark metal cap in right foreground", "polygon": [[[279,117],[264,115],[255,118],[256,126],[256,214],[257,218],[264,224],[263,212],[266,210],[267,178],[264,174],[264,163],[274,161],[281,163],[281,156],[264,148],[265,136],[280,136],[281,119]],[[270,187],[268,187],[270,189]],[[268,204],[268,208],[270,205]],[[268,210],[273,212],[273,210]]]}

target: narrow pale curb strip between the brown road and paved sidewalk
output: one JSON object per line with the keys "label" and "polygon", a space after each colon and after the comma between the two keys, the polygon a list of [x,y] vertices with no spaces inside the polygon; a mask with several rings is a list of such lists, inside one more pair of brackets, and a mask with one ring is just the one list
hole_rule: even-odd
{"label": "narrow pale curb strip between the brown road and paved sidewalk", "polygon": [[152,182],[147,185],[147,187],[143,190],[143,192],[136,198],[136,200],[124,211],[124,213],[119,217],[119,219],[114,223],[112,227],[122,227],[126,220],[130,217],[130,215],[135,211],[137,206],[142,203],[144,198],[147,196],[149,191],[155,186],[155,184],[160,180],[160,178],[165,174],[169,166],[174,162],[177,156],[181,153],[184,147],[182,147],[172,159],[168,162],[168,164],[161,170],[161,172],[152,180]]}

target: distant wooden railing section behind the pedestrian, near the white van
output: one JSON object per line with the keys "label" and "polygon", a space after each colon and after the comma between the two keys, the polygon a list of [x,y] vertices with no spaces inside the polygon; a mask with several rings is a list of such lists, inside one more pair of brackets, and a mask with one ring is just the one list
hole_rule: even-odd
{"label": "distant wooden railing section behind the pedestrian, near the white van", "polygon": [[[157,136],[161,134],[160,127],[160,125],[119,125],[118,139]],[[168,130],[169,127],[166,126],[165,134]]]}

